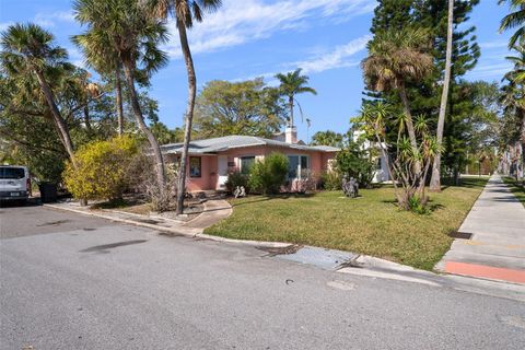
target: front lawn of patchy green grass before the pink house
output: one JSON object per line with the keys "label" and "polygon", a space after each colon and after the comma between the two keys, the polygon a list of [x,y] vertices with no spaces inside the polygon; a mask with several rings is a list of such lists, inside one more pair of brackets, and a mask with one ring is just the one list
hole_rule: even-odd
{"label": "front lawn of patchy green grass before the pink house", "polygon": [[233,214],[205,232],[350,250],[431,270],[486,183],[467,178],[460,187],[431,194],[428,215],[399,211],[389,187],[364,189],[357,199],[341,198],[340,191],[232,199]]}

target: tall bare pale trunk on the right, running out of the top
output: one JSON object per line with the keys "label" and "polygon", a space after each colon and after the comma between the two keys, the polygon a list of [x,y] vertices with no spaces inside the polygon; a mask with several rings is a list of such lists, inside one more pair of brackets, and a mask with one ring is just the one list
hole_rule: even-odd
{"label": "tall bare pale trunk on the right, running out of the top", "polygon": [[454,0],[448,0],[448,27],[446,33],[446,58],[445,58],[445,80],[443,81],[443,92],[441,94],[440,117],[438,118],[438,154],[432,165],[432,178],[430,179],[430,190],[441,191],[441,144],[443,143],[443,128],[445,125],[446,105],[448,98],[448,86],[451,84],[452,70],[452,34],[454,21]]}

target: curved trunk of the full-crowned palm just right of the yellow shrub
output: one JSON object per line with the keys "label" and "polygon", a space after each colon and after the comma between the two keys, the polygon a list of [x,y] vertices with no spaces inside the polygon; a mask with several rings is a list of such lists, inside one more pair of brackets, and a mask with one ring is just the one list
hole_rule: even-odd
{"label": "curved trunk of the full-crowned palm just right of the yellow shrub", "polygon": [[144,118],[142,117],[142,112],[140,110],[139,98],[137,96],[137,91],[135,90],[135,63],[132,62],[124,62],[124,73],[126,75],[126,84],[129,91],[129,97],[131,102],[131,107],[133,109],[135,119],[137,120],[137,125],[139,126],[140,130],[145,135],[148,141],[150,142],[151,149],[153,151],[153,155],[156,162],[156,179],[159,185],[159,191],[161,194],[161,198],[164,198],[164,191],[166,190],[166,174],[164,172],[164,160],[162,158],[161,148],[159,142],[156,142],[155,137],[148,128],[144,122]]}

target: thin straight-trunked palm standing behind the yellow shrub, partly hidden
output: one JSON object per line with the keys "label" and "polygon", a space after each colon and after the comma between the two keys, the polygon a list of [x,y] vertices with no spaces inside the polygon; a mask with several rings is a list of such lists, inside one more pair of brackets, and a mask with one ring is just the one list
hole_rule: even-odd
{"label": "thin straight-trunked palm standing behind the yellow shrub, partly hidden", "polygon": [[115,79],[115,107],[117,110],[118,135],[124,135],[124,107],[122,107],[122,83],[121,65],[118,60],[118,54],[112,49],[109,37],[106,37],[107,47],[104,51],[95,50],[92,45],[94,40],[101,39],[93,37],[93,32],[74,35],[71,40],[83,51],[86,66],[96,70],[98,73]]}

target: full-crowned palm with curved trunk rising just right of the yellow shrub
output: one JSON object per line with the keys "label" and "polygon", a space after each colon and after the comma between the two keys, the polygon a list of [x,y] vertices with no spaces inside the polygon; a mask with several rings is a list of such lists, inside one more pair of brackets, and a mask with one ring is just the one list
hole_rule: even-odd
{"label": "full-crowned palm with curved trunk rising just right of the yellow shrub", "polygon": [[77,0],[73,3],[75,19],[88,26],[90,55],[107,57],[116,54],[126,77],[129,100],[135,119],[145,135],[156,162],[156,176],[161,198],[165,198],[166,175],[164,159],[154,135],[144,121],[136,90],[138,67],[148,74],[167,63],[167,56],[159,49],[167,42],[165,25],[149,18],[135,0]]}

